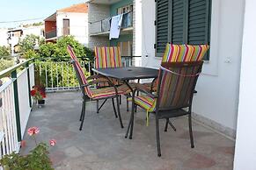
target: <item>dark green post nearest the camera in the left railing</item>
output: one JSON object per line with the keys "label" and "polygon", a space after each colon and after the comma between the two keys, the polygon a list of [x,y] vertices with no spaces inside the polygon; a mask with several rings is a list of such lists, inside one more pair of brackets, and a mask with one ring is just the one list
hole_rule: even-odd
{"label": "dark green post nearest the camera in the left railing", "polygon": [[18,142],[20,142],[21,141],[21,127],[20,127],[19,104],[18,104],[17,70],[14,70],[11,72],[11,78],[13,81],[13,95],[14,95],[15,115],[16,115],[16,123],[17,123],[17,135],[18,135]]}

